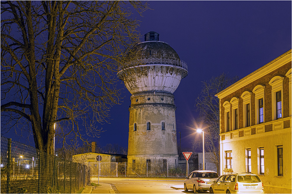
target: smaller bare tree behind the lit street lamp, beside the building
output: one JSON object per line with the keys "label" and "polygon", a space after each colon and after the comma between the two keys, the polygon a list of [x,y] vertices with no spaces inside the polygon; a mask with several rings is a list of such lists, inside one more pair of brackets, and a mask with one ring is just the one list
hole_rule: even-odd
{"label": "smaller bare tree behind the lit street lamp, beside the building", "polygon": [[[219,129],[219,99],[215,94],[224,90],[238,80],[238,76],[229,77],[224,72],[217,77],[212,77],[209,81],[202,81],[202,90],[196,99],[195,107],[200,112],[199,120],[204,123],[205,151],[210,152],[209,161],[217,166],[217,172],[220,168],[220,129]],[[193,142],[193,148],[201,147],[202,138],[196,138]]]}

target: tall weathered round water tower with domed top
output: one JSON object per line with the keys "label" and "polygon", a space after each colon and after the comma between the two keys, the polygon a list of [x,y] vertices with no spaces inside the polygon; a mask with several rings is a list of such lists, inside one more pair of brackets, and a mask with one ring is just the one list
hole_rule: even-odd
{"label": "tall weathered round water tower with domed top", "polygon": [[[168,163],[176,167],[178,149],[173,92],[187,76],[187,64],[168,43],[159,41],[159,34],[153,31],[145,34],[145,41],[134,49],[140,52],[141,58],[133,59],[118,72],[132,94],[128,166],[135,168],[142,160],[148,166]],[[129,76],[128,68],[136,62],[142,73],[132,72]]]}

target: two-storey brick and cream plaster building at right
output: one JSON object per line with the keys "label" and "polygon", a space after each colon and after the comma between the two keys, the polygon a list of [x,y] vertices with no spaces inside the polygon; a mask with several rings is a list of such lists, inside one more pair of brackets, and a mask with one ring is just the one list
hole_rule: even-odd
{"label": "two-storey brick and cream plaster building at right", "polygon": [[220,171],[252,172],[291,193],[291,50],[217,94]]}

